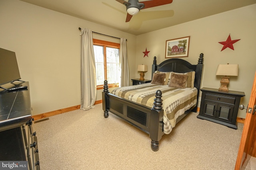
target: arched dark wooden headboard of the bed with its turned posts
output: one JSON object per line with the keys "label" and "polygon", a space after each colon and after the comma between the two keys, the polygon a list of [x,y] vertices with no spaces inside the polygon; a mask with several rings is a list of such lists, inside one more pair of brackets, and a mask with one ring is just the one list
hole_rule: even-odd
{"label": "arched dark wooden headboard of the bed with its turned posts", "polygon": [[[156,57],[154,57],[154,61],[152,64],[152,77],[156,70],[161,72],[190,72],[195,71],[195,82],[194,87],[197,88],[197,98],[199,98],[199,92],[200,92],[200,84],[201,84],[201,78],[202,78],[202,72],[203,72],[203,63],[204,63],[204,54],[201,53],[198,59],[198,64],[193,65],[189,63],[188,61],[185,61],[183,59],[167,59],[163,61],[160,64],[156,64]],[[197,108],[197,105],[195,109]],[[192,110],[193,111],[193,110]],[[196,111],[195,111],[196,112]]]}

